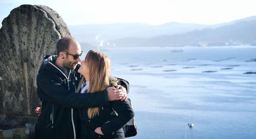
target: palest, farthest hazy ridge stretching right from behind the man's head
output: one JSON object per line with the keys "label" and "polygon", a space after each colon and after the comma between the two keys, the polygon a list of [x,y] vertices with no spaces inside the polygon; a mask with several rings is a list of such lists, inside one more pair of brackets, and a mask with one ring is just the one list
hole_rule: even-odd
{"label": "palest, farthest hazy ridge stretching right from behind the man's head", "polygon": [[150,38],[161,35],[186,33],[204,28],[211,28],[211,25],[169,22],[159,26],[137,23],[69,26],[69,30],[73,37],[79,42],[89,43],[98,43],[100,41],[125,37]]}

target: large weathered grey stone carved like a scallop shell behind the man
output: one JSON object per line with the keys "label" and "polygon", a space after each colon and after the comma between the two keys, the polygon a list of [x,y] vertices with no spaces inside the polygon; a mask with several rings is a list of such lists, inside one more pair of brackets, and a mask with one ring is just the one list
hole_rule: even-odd
{"label": "large weathered grey stone carved like a scallop shell behind the man", "polygon": [[[0,80],[0,130],[25,126],[31,119],[34,124],[34,108],[40,106],[36,75],[44,55],[55,54],[56,42],[63,36],[71,36],[67,25],[47,6],[22,5],[3,20],[0,29],[0,77],[3,79]],[[22,122],[7,120],[7,117],[22,119]],[[15,130],[14,135],[16,132],[19,134]]]}

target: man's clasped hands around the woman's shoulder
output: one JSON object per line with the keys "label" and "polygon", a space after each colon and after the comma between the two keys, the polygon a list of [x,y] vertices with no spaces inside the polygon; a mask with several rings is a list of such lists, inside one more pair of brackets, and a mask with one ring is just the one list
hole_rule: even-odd
{"label": "man's clasped hands around the woman's shoulder", "polygon": [[[117,85],[116,87],[112,86],[106,89],[108,91],[108,97],[109,101],[114,101],[114,100],[120,100],[124,97],[124,92],[122,89],[117,89],[120,88],[121,85]],[[127,93],[126,93],[127,96]]]}

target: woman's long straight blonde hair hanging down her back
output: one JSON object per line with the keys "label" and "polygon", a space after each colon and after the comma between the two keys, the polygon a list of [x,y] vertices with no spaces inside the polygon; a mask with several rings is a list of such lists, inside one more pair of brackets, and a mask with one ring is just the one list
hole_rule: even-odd
{"label": "woman's long straight blonde hair hanging down her back", "polygon": [[[86,64],[89,68],[89,87],[88,93],[96,91],[102,91],[110,85],[110,59],[105,54],[90,50],[86,55]],[[81,84],[84,81],[84,77],[79,82],[78,91],[81,88]],[[99,108],[88,108],[89,119],[99,114]]]}

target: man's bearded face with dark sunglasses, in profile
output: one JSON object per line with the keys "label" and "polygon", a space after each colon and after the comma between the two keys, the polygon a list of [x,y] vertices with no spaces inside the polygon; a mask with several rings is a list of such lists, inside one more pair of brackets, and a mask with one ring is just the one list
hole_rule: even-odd
{"label": "man's bearded face with dark sunglasses, in profile", "polygon": [[[72,55],[80,55],[82,53],[80,44],[77,41],[72,41],[69,45],[69,54]],[[66,59],[63,61],[63,67],[66,67],[68,69],[75,69],[77,66],[77,62],[81,61],[81,58],[78,57],[77,59],[74,59],[74,56],[68,55]]]}

